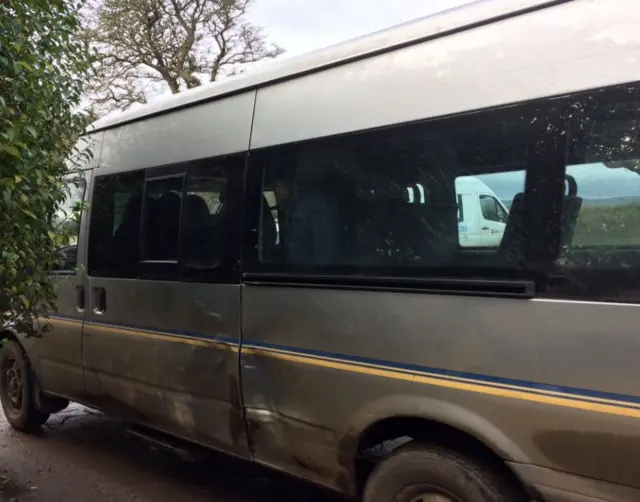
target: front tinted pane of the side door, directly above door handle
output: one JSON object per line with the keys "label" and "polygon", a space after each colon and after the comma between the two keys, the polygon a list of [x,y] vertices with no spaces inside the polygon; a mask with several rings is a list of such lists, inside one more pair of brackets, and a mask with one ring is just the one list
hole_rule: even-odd
{"label": "front tinted pane of the side door, directly above door handle", "polygon": [[98,176],[91,202],[89,274],[136,277],[144,172]]}

